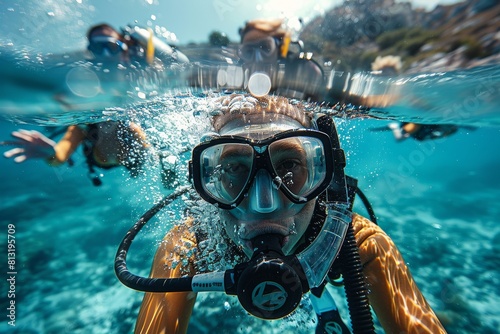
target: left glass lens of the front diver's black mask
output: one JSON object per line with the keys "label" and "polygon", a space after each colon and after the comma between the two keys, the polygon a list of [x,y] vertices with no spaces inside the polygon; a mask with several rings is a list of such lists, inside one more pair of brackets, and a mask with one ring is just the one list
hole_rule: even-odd
{"label": "left glass lens of the front diver's black mask", "polygon": [[247,183],[253,165],[253,149],[246,144],[218,144],[200,155],[202,186],[220,203],[232,204]]}

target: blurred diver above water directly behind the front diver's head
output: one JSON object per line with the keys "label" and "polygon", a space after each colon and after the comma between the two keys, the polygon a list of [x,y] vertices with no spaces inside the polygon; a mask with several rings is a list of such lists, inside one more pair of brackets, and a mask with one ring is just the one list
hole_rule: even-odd
{"label": "blurred diver above water directly behind the front diver's head", "polygon": [[[264,73],[270,79],[267,83],[269,89],[264,90],[266,93],[322,101],[325,91],[323,70],[312,59],[312,53],[302,50],[302,41],[292,41],[292,33],[284,27],[283,20],[249,21],[240,28],[239,33],[241,43],[238,55],[251,91],[256,90],[252,87],[254,74],[257,74],[256,86],[265,86],[261,81],[266,80],[265,77],[261,79],[262,76],[259,75]],[[292,52],[291,46],[296,46],[297,52]],[[258,91],[261,89],[257,87]]]}

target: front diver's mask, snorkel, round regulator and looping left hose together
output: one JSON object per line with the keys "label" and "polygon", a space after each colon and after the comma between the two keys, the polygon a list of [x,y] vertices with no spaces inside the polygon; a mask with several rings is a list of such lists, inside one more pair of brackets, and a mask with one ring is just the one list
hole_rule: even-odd
{"label": "front diver's mask, snorkel, round regulator and looping left hose together", "polygon": [[[262,131],[252,127],[247,129],[251,135],[245,137],[225,132],[198,145],[190,163],[197,192],[225,210],[238,208],[245,194],[252,196],[252,187],[259,189],[260,183],[274,186],[267,192],[255,191],[256,196],[263,196],[254,199],[253,209],[260,214],[286,209],[285,204],[274,202],[278,192],[292,205],[300,206],[328,189],[328,216],[304,251],[285,255],[281,236],[259,235],[252,239],[255,250],[250,261],[224,272],[181,278],[145,278],[130,273],[126,256],[133,239],[161,208],[189,190],[182,187],[146,212],[124,237],[115,258],[120,281],[147,292],[220,291],[237,295],[249,313],[263,319],[278,319],[293,312],[304,293],[324,284],[351,221],[344,152],[333,121],[324,117],[326,120],[317,122],[319,131],[294,129],[265,138],[259,135]],[[268,176],[263,176],[266,173]]]}

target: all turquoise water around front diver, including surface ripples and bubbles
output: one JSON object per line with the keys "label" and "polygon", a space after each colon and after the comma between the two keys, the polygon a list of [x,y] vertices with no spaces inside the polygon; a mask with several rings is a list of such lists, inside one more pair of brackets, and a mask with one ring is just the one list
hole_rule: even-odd
{"label": "all turquoise water around front diver, including surface ripples and bubbles", "polygon": [[[178,182],[186,182],[187,155],[182,152],[207,129],[205,98],[171,90],[164,94],[156,86],[163,81],[101,80],[104,88],[119,84],[144,92],[146,98],[125,95],[115,100],[104,94],[91,99],[90,108],[82,104],[78,110],[61,112],[53,100],[57,85],[48,82],[58,82],[68,67],[50,67],[49,60],[37,65],[20,62],[16,52],[0,57],[2,65],[18,65],[1,69],[0,140],[18,128],[47,131],[40,125],[134,119],[155,147],[169,147],[183,157]],[[17,85],[16,78],[46,81]],[[396,105],[337,117],[347,172],[359,179],[379,225],[400,248],[449,333],[500,332],[499,78],[500,67],[492,66],[390,79],[403,96]],[[387,84],[375,79],[366,89],[377,91]],[[70,80],[61,87],[78,93],[69,95],[71,102],[88,100],[85,83]],[[426,142],[396,142],[390,132],[372,131],[393,120],[462,128]],[[81,154],[75,154],[73,167],[60,168],[42,161],[15,164],[0,159],[2,282],[15,276],[15,284],[2,283],[0,332],[133,331],[142,293],[116,279],[113,261],[128,228],[168,193],[159,180],[157,159],[147,165],[145,175],[137,179],[124,169],[105,171],[103,185],[94,187]],[[129,256],[132,271],[147,275],[158,242],[179,221],[184,207],[182,201],[175,202],[141,232]],[[355,209],[365,213],[359,201]],[[16,238],[15,275],[8,274],[8,235]],[[9,290],[15,297],[8,297]],[[345,316],[342,291],[333,292]],[[15,327],[7,323],[12,300]],[[290,317],[266,322],[248,316],[235,297],[204,293],[198,297],[189,333],[313,333],[314,326],[307,297]]]}

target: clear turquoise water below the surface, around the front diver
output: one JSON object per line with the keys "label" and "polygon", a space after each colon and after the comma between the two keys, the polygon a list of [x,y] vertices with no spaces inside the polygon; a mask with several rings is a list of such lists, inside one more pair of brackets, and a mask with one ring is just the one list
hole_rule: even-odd
{"label": "clear turquoise water below the surface, around the front diver", "polygon": [[[201,117],[189,108],[170,115],[177,119],[177,131],[196,132],[183,127],[185,119]],[[173,121],[161,123],[161,118],[143,123],[170,129],[166,140],[179,138]],[[370,131],[387,120],[337,121],[349,174],[359,179],[379,224],[401,249],[428,301],[448,319],[449,332],[497,332],[500,129],[480,126],[441,140],[398,143],[388,132]],[[5,138],[21,126],[38,128],[2,121],[0,133]],[[125,231],[166,193],[158,166],[151,162],[139,179],[130,179],[125,170],[105,172],[97,188],[86,177],[80,155],[73,167],[50,168],[41,161],[17,165],[7,159],[0,164],[1,247],[6,249],[7,226],[13,224],[17,252],[16,327],[3,322],[0,330],[131,332],[142,294],[121,285],[112,266]],[[182,204],[170,208],[146,228],[132,247],[132,270],[147,274],[158,241],[181,210]],[[363,212],[361,206],[358,210]],[[201,294],[199,299],[192,333],[313,331],[306,302],[289,319],[261,323],[247,316],[236,298]],[[4,294],[4,310],[6,302]]]}

